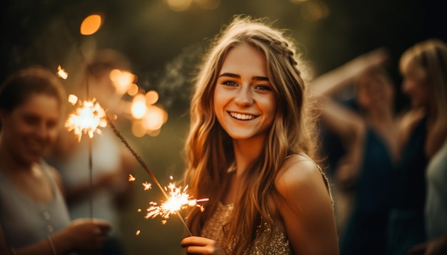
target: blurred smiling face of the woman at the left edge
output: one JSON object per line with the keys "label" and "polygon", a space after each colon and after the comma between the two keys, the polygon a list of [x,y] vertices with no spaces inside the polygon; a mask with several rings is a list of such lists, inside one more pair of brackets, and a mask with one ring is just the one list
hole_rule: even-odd
{"label": "blurred smiling face of the woman at the left edge", "polygon": [[32,94],[11,113],[1,111],[1,146],[21,164],[40,160],[56,141],[61,118],[59,106],[53,96]]}

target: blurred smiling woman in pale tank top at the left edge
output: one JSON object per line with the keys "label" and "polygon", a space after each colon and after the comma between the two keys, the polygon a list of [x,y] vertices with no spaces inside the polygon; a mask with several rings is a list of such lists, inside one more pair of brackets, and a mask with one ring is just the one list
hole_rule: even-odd
{"label": "blurred smiling woman in pale tank top at the left edge", "polygon": [[106,221],[71,222],[59,173],[43,159],[65,100],[44,68],[17,71],[0,87],[0,254],[91,253],[106,241]]}

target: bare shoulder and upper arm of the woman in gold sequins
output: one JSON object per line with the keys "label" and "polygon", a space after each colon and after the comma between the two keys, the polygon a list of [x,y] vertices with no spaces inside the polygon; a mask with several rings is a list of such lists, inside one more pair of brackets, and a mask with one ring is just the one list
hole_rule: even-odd
{"label": "bare shoulder and upper arm of the woman in gold sequins", "polygon": [[295,254],[338,254],[331,197],[316,164],[296,155],[281,172],[275,203]]}

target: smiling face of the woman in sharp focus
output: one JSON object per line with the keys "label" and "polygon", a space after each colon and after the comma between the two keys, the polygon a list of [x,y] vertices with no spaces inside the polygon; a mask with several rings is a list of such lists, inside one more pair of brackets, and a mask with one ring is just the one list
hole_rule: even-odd
{"label": "smiling face of the woman in sharp focus", "polygon": [[214,111],[234,140],[265,136],[276,115],[266,58],[243,43],[228,51],[214,90]]}

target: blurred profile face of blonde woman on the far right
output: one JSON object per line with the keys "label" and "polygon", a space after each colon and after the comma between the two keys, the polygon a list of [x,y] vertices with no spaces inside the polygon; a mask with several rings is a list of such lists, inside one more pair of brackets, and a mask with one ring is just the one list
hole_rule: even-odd
{"label": "blurred profile face of blonde woman on the far right", "polygon": [[403,75],[402,92],[408,96],[414,108],[428,104],[427,83],[421,77],[421,71],[416,67],[408,68]]}

